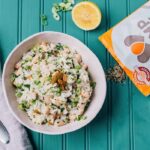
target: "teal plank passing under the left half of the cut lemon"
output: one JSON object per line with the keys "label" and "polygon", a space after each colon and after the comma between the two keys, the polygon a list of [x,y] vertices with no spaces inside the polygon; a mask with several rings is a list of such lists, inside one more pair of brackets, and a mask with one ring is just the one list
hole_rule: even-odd
{"label": "teal plank passing under the left half of the cut lemon", "polygon": [[[76,0],[76,3],[80,2],[80,0]],[[82,42],[84,42],[84,32],[80,30],[73,23],[71,18],[71,13],[67,12],[63,15],[63,31],[69,35],[72,35]],[[85,128],[82,128],[76,132],[72,132],[66,134],[66,141],[64,141],[64,149],[67,150],[83,150],[85,149]]]}

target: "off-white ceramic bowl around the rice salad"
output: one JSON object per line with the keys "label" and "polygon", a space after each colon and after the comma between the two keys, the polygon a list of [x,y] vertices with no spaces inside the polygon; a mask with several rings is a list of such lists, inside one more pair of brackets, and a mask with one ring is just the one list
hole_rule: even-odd
{"label": "off-white ceramic bowl around the rice salad", "polygon": [[[77,50],[81,54],[83,61],[88,65],[89,72],[94,81],[96,81],[96,88],[92,97],[92,101],[87,111],[85,112],[85,116],[87,116],[87,119],[70,123],[62,127],[36,125],[29,119],[25,112],[20,111],[17,108],[18,104],[15,97],[15,89],[10,81],[10,75],[14,71],[14,65],[20,60],[23,54],[41,41],[51,41],[55,43],[59,42],[68,45],[71,49]],[[87,46],[85,46],[76,38],[59,32],[49,31],[34,34],[17,45],[6,60],[2,82],[7,104],[16,119],[29,129],[45,134],[63,134],[75,131],[87,125],[95,118],[95,116],[102,108],[106,95],[105,74],[97,57]]]}

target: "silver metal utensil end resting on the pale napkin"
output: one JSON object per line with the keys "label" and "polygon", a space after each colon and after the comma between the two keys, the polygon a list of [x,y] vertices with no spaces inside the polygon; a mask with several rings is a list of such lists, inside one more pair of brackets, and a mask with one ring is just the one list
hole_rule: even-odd
{"label": "silver metal utensil end resting on the pale napkin", "polygon": [[10,142],[10,135],[4,124],[0,121],[0,141],[4,144]]}

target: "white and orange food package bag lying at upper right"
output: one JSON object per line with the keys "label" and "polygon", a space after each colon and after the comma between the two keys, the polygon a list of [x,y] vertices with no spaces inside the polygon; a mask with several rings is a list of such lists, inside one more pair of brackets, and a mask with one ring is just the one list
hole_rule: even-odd
{"label": "white and orange food package bag lying at upper right", "polygon": [[150,1],[99,37],[135,86],[150,95]]}

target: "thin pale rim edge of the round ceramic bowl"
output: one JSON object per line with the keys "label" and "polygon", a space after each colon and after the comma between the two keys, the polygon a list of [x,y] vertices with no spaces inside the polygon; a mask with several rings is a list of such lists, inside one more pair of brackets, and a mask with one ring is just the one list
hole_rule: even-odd
{"label": "thin pale rim edge of the round ceramic bowl", "polygon": [[[15,112],[13,111],[10,103],[9,103],[9,100],[8,100],[8,97],[7,97],[7,92],[6,92],[6,89],[5,89],[5,70],[6,70],[6,67],[7,67],[7,64],[8,64],[8,61],[10,60],[11,56],[13,55],[13,53],[15,53],[15,51],[25,42],[29,41],[30,39],[34,38],[34,37],[37,37],[37,36],[40,36],[42,34],[60,34],[60,35],[63,35],[63,36],[68,36],[68,38],[72,38],[74,40],[76,40],[77,42],[80,42],[84,47],[86,47],[86,49],[92,54],[94,55],[95,59],[97,59],[97,62],[99,62],[99,67],[100,67],[100,70],[101,70],[101,73],[104,77],[104,83],[103,83],[103,95],[102,95],[102,98],[101,98],[101,105],[99,105],[99,109],[97,112],[95,112],[95,114],[93,115],[93,117],[91,117],[88,121],[85,121],[83,122],[82,124],[80,124],[79,126],[75,127],[75,128],[68,128],[67,131],[56,131],[56,132],[50,132],[50,131],[40,131],[38,129],[35,129],[33,127],[29,127],[29,125],[25,122],[23,122],[16,114]],[[2,73],[2,89],[3,89],[3,93],[4,93],[4,97],[5,97],[5,101],[7,103],[7,106],[10,110],[10,112],[13,114],[13,116],[16,118],[16,120],[22,124],[23,126],[27,127],[28,129],[32,130],[32,131],[36,131],[38,133],[44,133],[44,134],[47,134],[47,135],[60,135],[60,134],[65,134],[65,133],[70,133],[70,132],[73,132],[73,131],[76,131],[76,130],[79,130],[81,128],[83,128],[84,126],[86,126],[87,124],[89,124],[96,116],[97,114],[99,113],[99,111],[102,109],[102,106],[104,104],[104,101],[105,101],[105,98],[106,98],[106,92],[107,92],[107,84],[106,84],[106,77],[105,77],[105,73],[104,73],[104,69],[102,67],[102,64],[101,62],[99,61],[99,59],[97,58],[97,56],[82,42],[80,41],[79,39],[71,36],[71,35],[68,35],[68,34],[65,34],[65,33],[62,33],[62,32],[55,32],[55,31],[43,31],[43,32],[38,32],[38,33],[35,33],[27,38],[25,38],[23,41],[21,41],[19,44],[17,44],[13,49],[12,51],[10,52],[10,54],[8,55],[5,63],[4,63],[4,67],[3,67],[3,73]]]}

